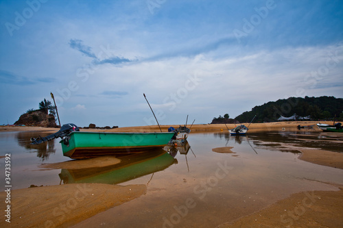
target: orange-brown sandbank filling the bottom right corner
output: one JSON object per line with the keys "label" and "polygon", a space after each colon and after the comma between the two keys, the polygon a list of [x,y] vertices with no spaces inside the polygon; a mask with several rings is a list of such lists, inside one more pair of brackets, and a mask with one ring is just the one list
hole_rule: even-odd
{"label": "orange-brown sandbank filling the bottom right corner", "polygon": [[343,186],[340,191],[292,194],[269,207],[218,228],[236,227],[342,227]]}

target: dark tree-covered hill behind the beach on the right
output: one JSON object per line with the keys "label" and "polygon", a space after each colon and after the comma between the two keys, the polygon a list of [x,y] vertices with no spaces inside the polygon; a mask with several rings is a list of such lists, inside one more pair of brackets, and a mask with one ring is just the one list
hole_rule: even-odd
{"label": "dark tree-covered hill behind the beach on the right", "polygon": [[273,122],[280,116],[289,117],[310,116],[312,121],[343,120],[343,99],[335,97],[289,97],[270,101],[263,105],[255,106],[249,112],[237,116],[235,120],[244,123],[250,122],[256,115],[254,122]]}

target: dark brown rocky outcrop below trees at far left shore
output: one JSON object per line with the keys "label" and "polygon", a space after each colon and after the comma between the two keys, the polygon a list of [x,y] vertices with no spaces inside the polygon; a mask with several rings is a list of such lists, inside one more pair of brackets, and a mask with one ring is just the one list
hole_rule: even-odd
{"label": "dark brown rocky outcrop below trees at far left shore", "polygon": [[37,127],[57,127],[55,116],[46,114],[42,110],[27,112],[19,117],[14,125],[37,126]]}

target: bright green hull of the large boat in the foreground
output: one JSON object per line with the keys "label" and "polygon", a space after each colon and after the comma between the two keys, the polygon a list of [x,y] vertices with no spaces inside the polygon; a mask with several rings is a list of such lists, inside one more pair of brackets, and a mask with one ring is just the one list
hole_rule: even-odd
{"label": "bright green hull of the large boat in the foreground", "polygon": [[73,159],[115,155],[124,153],[143,153],[150,149],[164,147],[172,132],[161,133],[122,133],[122,132],[80,132],[69,134],[61,140],[63,155]]}

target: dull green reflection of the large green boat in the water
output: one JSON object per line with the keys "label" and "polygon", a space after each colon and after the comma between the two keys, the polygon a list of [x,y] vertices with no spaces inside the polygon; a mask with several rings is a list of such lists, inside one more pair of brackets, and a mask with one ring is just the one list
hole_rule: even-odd
{"label": "dull green reflection of the large green boat in the water", "polygon": [[123,155],[114,164],[99,168],[62,169],[59,174],[63,183],[122,183],[144,175],[156,173],[177,163],[177,160],[163,149],[146,153]]}

